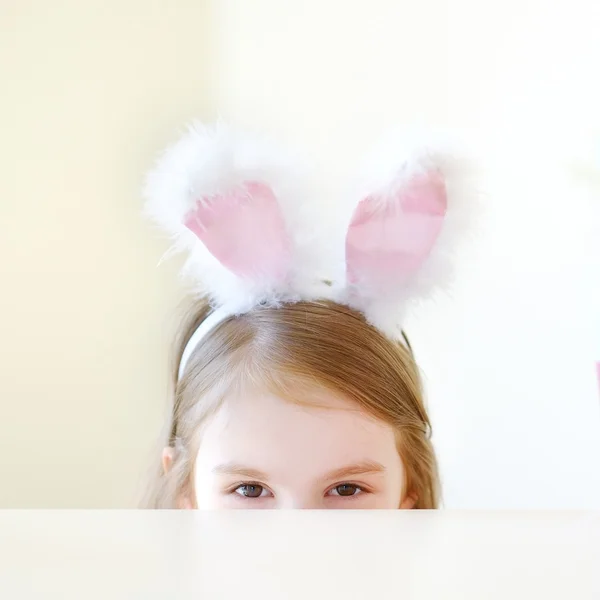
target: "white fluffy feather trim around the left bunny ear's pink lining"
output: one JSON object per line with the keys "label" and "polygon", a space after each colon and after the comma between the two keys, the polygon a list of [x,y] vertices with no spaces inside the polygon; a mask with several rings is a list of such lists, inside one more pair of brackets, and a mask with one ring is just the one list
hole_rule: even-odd
{"label": "white fluffy feather trim around the left bunny ear's pink lining", "polygon": [[[246,181],[270,186],[291,239],[289,278],[279,289],[271,282],[242,280],[232,274],[184,225],[198,199]],[[277,304],[315,297],[319,290],[325,293],[316,277],[320,260],[315,227],[318,220],[310,210],[314,203],[310,202],[312,194],[306,181],[298,160],[265,138],[237,134],[223,124],[209,127],[194,122],[148,175],[145,212],[172,237],[172,252],[189,253],[182,275],[192,282],[194,291],[236,314],[257,303]]]}

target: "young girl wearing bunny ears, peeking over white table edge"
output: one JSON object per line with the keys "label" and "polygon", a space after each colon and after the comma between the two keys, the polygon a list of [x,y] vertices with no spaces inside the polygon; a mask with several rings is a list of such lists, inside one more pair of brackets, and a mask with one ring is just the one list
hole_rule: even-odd
{"label": "young girl wearing bunny ears, peeking over white table edge", "polygon": [[437,508],[401,322],[449,272],[461,173],[441,153],[390,149],[321,229],[293,165],[196,124],[148,178],[148,213],[189,251],[196,300],[144,505]]}

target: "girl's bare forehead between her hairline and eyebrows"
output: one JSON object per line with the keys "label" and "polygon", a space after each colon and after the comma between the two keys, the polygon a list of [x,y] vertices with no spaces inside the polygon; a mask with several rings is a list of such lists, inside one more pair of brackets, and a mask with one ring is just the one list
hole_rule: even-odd
{"label": "girl's bare forehead between her hairline and eyebrows", "polygon": [[392,427],[350,401],[321,394],[314,405],[265,392],[225,399],[203,430],[197,468],[241,463],[284,477],[290,470],[300,474],[366,462],[384,468],[400,464]]}

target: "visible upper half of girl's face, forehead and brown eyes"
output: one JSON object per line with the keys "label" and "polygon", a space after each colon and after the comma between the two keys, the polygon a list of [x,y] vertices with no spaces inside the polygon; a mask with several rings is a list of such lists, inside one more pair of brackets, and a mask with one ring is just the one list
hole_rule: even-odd
{"label": "visible upper half of girl's face, forehead and brown eyes", "polygon": [[329,392],[297,405],[228,398],[204,426],[195,463],[199,509],[411,508],[393,429]]}

